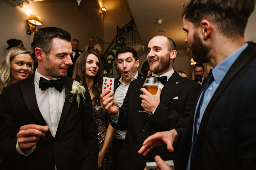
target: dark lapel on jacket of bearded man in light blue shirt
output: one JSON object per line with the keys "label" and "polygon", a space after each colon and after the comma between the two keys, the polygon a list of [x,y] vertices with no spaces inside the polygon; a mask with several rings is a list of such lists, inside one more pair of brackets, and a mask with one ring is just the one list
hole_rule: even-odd
{"label": "dark lapel on jacket of bearded man in light blue shirt", "polygon": [[204,128],[207,124],[207,121],[209,119],[209,116],[211,114],[212,108],[214,107],[215,103],[218,101],[220,95],[222,92],[226,89],[229,82],[236,76],[236,74],[251,60],[255,58],[255,50],[248,46],[236,59],[236,61],[232,64],[230,69],[228,70],[227,74],[221,81],[219,87],[216,89],[215,93],[212,96],[212,99],[210,100],[209,104],[207,105],[204,116],[202,118],[202,121],[200,123],[200,127],[198,130],[198,134],[196,136],[196,144],[195,144],[195,150],[194,150],[194,156],[193,161],[198,157],[198,154],[200,155],[200,146],[202,143],[202,138],[204,136]]}

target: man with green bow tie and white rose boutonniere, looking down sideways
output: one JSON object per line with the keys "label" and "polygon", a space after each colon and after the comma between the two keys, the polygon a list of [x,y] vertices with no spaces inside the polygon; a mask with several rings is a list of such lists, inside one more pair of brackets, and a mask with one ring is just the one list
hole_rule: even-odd
{"label": "man with green bow tie and white rose boutonniere, looking down sideways", "polygon": [[70,40],[60,28],[39,29],[33,39],[36,72],[1,93],[0,153],[12,169],[97,169],[97,128],[85,83],[86,105],[69,103]]}

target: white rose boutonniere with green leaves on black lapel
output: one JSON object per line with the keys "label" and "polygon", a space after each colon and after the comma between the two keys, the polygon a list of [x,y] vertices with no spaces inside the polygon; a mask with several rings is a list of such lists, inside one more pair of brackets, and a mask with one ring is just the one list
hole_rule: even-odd
{"label": "white rose boutonniere with green leaves on black lapel", "polygon": [[70,92],[73,94],[73,96],[69,99],[69,101],[68,101],[69,103],[72,103],[73,97],[76,96],[76,102],[77,102],[78,107],[79,107],[81,97],[85,104],[85,96],[84,96],[85,89],[84,89],[84,86],[82,86],[82,81],[80,81],[80,83],[79,83],[78,81],[74,80]]}

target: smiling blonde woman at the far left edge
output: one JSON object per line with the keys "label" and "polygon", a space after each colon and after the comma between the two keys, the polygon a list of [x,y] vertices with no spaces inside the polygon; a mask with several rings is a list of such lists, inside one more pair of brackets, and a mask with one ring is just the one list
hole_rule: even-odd
{"label": "smiling blonde woman at the far left edge", "polygon": [[5,86],[28,78],[32,74],[30,51],[16,46],[9,49],[0,63],[0,94]]}

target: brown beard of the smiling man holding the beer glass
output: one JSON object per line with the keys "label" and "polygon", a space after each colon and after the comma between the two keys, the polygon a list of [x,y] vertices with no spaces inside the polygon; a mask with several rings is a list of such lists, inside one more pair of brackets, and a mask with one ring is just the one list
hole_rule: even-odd
{"label": "brown beard of the smiling man holding the beer glass", "polygon": [[166,72],[171,65],[170,54],[167,53],[165,56],[159,58],[158,63],[159,64],[156,67],[149,65],[149,70],[155,74]]}

